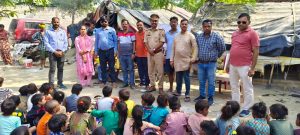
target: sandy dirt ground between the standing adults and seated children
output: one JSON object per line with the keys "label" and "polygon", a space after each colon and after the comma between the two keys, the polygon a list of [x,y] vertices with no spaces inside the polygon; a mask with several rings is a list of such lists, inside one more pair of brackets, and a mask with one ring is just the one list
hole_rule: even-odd
{"label": "sandy dirt ground between the standing adults and seated children", "polygon": [[[25,69],[22,66],[4,66],[3,63],[0,62],[0,76],[5,78],[4,87],[13,89],[16,94],[18,94],[18,89],[22,85],[35,83],[40,86],[42,83],[48,82],[48,71],[49,68],[39,70],[38,66],[34,66],[30,69]],[[199,85],[196,76],[192,76],[191,80],[191,98],[194,99],[199,95]],[[96,82],[97,80],[94,79],[93,81]],[[77,83],[75,63],[65,64],[64,84],[68,87],[68,89],[62,91],[66,93],[66,96],[71,94],[70,89],[75,83]],[[118,85],[120,86],[121,82],[118,82]],[[169,83],[165,81],[164,86],[164,89],[167,90],[169,88]],[[174,88],[175,86],[176,84],[174,84]],[[300,112],[300,98],[289,96],[291,94],[290,91],[283,90],[280,87],[272,87],[271,89],[266,89],[266,85],[254,84],[254,88],[255,102],[264,101],[267,106],[270,106],[274,103],[285,104],[289,109],[288,120],[295,126],[296,115]],[[113,95],[117,96],[118,90],[118,88],[114,89]],[[141,104],[141,94],[142,92],[140,92],[138,89],[131,90],[131,99],[134,100],[136,104]],[[153,92],[153,94],[157,97],[158,92]],[[102,95],[101,88],[98,85],[94,85],[92,88],[86,87],[81,93],[81,96],[83,95],[91,97],[94,97],[95,95]],[[216,89],[215,104],[213,104],[209,109],[209,117],[215,119],[217,115],[220,114],[221,107],[227,100],[230,99],[230,90],[223,90],[222,93],[218,93]],[[186,103],[183,101],[183,96],[181,97],[181,101],[182,111],[188,114],[195,112],[195,102],[191,101]]]}

